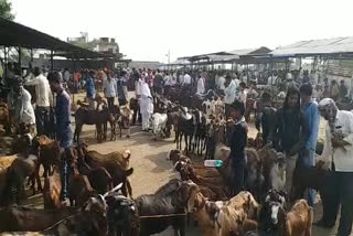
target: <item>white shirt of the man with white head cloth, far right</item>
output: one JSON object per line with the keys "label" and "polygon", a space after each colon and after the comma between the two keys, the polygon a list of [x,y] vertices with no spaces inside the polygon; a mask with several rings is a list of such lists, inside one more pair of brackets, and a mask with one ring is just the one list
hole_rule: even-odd
{"label": "white shirt of the man with white head cloth, far right", "polygon": [[344,146],[345,150],[343,148],[333,149],[331,143],[331,129],[328,124],[322,155],[318,161],[322,160],[325,162],[327,167],[331,167],[331,161],[333,159],[335,171],[353,172],[353,112],[338,110],[334,126],[338,130],[341,130],[342,133],[346,135],[344,140],[352,143],[352,146]]}

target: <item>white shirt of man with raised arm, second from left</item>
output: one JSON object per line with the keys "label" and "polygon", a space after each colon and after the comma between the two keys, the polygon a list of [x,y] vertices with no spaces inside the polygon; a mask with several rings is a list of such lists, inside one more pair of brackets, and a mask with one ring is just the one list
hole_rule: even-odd
{"label": "white shirt of man with raised arm, second from left", "polygon": [[53,95],[46,77],[42,74],[25,83],[25,85],[35,85],[36,106],[49,107],[53,105]]}

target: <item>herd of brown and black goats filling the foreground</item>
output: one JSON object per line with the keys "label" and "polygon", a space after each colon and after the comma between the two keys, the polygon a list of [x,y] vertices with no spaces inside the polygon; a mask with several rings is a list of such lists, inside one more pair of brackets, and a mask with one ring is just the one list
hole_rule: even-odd
{"label": "herd of brown and black goats filling the foreground", "polygon": [[[247,191],[233,196],[229,148],[220,144],[214,154],[223,160],[221,168],[205,168],[192,162],[185,152],[171,150],[168,160],[180,179],[170,180],[153,194],[132,197],[129,151],[100,154],[88,150],[85,143],[63,151],[56,141],[44,136],[21,139],[31,144],[23,144],[25,148],[0,172],[0,197],[6,204],[0,208],[0,235],[148,236],[172,226],[174,235],[183,236],[193,218],[203,236],[264,232],[309,236],[313,213],[301,195],[307,187],[320,191],[315,183],[325,176],[319,167],[299,165],[293,179],[296,191],[286,194],[280,191],[286,182],[284,155],[272,149],[248,148]],[[69,207],[60,201],[61,160],[69,163]],[[309,181],[301,181],[309,175]],[[26,197],[26,181],[33,194],[42,191],[44,210],[18,205]]]}

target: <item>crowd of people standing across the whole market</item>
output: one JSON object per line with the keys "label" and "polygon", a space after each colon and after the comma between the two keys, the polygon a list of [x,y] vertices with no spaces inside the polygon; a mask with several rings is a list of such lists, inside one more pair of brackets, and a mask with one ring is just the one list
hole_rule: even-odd
{"label": "crowd of people standing across the whole market", "polygon": [[[51,111],[55,114],[55,138],[62,148],[72,144],[71,98],[65,84],[72,93],[85,89],[88,109],[96,109],[95,97],[98,84],[101,83],[108,108],[128,103],[128,89],[135,89],[139,100],[139,114],[142,130],[150,128],[150,116],[153,114],[154,94],[165,94],[170,87],[181,86],[201,98],[208,89],[216,90],[225,103],[225,116],[233,120],[233,133],[229,139],[231,158],[235,178],[235,194],[244,189],[246,144],[248,127],[244,118],[246,101],[254,97],[260,106],[256,118],[256,128],[261,130],[263,139],[268,147],[281,151],[287,158],[286,191],[291,191],[291,180],[298,162],[313,167],[319,136],[320,114],[328,121],[323,153],[320,160],[330,163],[332,171],[332,201],[330,211],[318,223],[332,227],[341,204],[339,235],[350,235],[353,223],[353,114],[339,110],[335,101],[347,100],[353,93],[344,81],[340,85],[335,81],[320,77],[318,72],[275,71],[229,73],[229,72],[161,72],[159,69],[98,69],[71,73],[44,73],[39,67],[29,69],[26,75],[8,74],[10,85],[7,103],[11,122],[18,133],[47,135],[51,124]],[[266,85],[285,93],[284,105],[275,107],[270,93],[259,92],[257,85]],[[35,86],[35,108],[32,96],[25,86]],[[53,93],[56,98],[53,99]],[[182,96],[182,95],[181,95]],[[54,101],[56,104],[54,105]],[[53,108],[55,107],[55,108]],[[63,167],[63,201],[67,193],[67,165]],[[66,190],[66,191],[65,191]],[[314,190],[308,192],[308,203],[313,206]]]}

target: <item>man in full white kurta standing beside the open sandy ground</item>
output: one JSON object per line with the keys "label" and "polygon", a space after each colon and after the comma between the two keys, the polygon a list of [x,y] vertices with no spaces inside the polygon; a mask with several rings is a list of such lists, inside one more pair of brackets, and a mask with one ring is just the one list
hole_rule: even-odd
{"label": "man in full white kurta standing beside the open sandy ground", "polygon": [[140,112],[142,116],[142,130],[148,131],[150,126],[149,119],[151,114],[153,112],[153,101],[151,90],[146,82],[142,82],[140,92]]}

